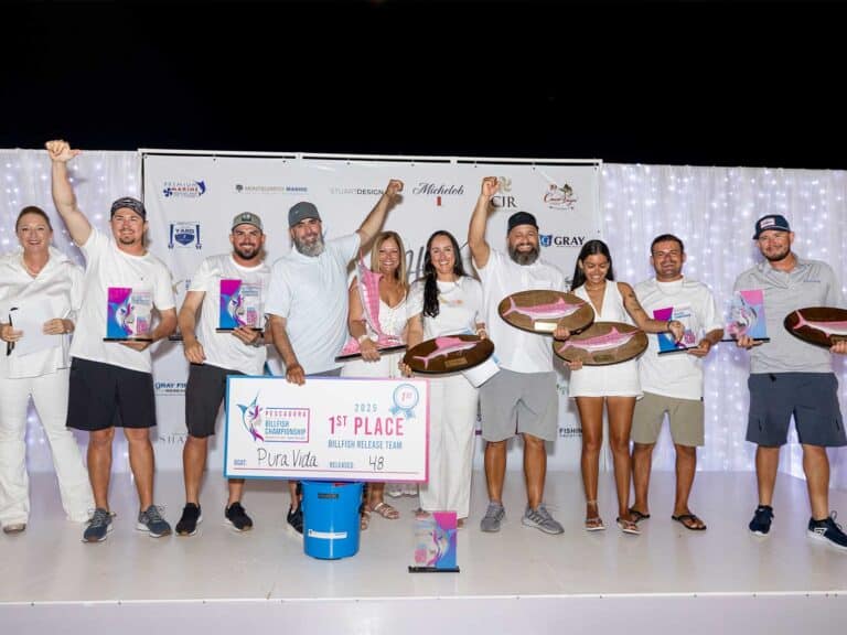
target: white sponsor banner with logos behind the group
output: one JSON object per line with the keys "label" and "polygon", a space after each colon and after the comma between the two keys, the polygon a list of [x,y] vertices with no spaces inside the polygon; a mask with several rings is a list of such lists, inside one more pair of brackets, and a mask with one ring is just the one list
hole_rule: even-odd
{"label": "white sponsor banner with logos behind the group", "polygon": [[[232,249],[229,224],[236,214],[253,212],[261,217],[266,257],[272,263],[291,249],[288,209],[293,204],[313,203],[321,214],[324,238],[332,239],[358,228],[390,179],[401,180],[405,187],[384,228],[403,237],[409,280],[422,275],[427,239],[442,229],[455,236],[465,270],[474,271],[467,245],[468,222],[483,176],[496,176],[500,182],[486,230],[493,248],[505,250],[508,217],[518,211],[529,212],[538,220],[542,257],[559,267],[569,280],[579,249],[600,236],[598,163],[476,164],[463,159],[342,160],[225,153],[148,153],[142,161],[150,249],[171,269],[178,306],[202,260]],[[365,260],[369,261],[368,255]],[[169,383],[184,380],[187,366],[181,345],[176,347],[179,351],[154,357],[154,377],[167,377]],[[269,365],[274,373],[282,373],[275,359]],[[560,377],[560,381],[566,380],[567,372]],[[560,401],[560,428],[578,428],[567,396]],[[184,430],[182,409],[168,409],[160,417],[160,426]],[[551,469],[578,465],[578,459],[571,459],[572,452],[566,449],[570,443],[579,448],[578,438],[566,437],[550,449]],[[479,445],[474,462],[481,465]],[[510,452],[515,458],[508,464],[519,469],[522,448],[519,443],[512,445]],[[172,467],[180,465],[176,461]]]}

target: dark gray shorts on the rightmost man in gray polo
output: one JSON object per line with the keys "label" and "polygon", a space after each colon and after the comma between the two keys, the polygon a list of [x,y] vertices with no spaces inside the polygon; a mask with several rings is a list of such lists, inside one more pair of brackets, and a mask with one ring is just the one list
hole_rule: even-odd
{"label": "dark gray shorts on the rightmost man in gray polo", "polygon": [[847,445],[838,380],[833,373],[762,373],[750,375],[747,440],[768,448],[784,445],[792,415],[797,439],[806,445]]}

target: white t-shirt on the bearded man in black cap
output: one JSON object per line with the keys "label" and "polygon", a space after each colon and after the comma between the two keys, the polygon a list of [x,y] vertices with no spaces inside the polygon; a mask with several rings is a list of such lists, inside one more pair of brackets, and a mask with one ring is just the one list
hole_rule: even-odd
{"label": "white t-shirt on the bearded man in black cap", "polygon": [[515,373],[553,370],[553,340],[506,323],[497,313],[497,305],[503,298],[517,291],[565,291],[562,272],[540,258],[532,265],[518,265],[507,254],[495,249],[490,250],[485,267],[476,270],[482,280],[485,323],[500,366]]}

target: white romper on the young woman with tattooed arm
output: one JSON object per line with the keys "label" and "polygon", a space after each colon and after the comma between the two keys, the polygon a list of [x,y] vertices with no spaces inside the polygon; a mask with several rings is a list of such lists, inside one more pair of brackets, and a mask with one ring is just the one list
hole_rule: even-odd
{"label": "white romper on the young woman with tattooed arm", "polygon": [[[578,287],[573,293],[591,303],[596,322],[632,323],[630,314],[623,308],[623,298],[617,282],[607,281],[602,311],[598,311],[591,302],[585,284]],[[637,360],[629,359],[608,366],[582,366],[579,370],[571,370],[569,395],[570,397],[641,397]]]}

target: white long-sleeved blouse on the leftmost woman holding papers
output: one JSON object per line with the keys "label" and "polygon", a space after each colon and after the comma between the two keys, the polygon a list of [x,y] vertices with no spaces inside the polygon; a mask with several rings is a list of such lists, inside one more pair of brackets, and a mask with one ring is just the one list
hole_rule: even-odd
{"label": "white long-sleeved blouse on the leftmost woman holding papers", "polygon": [[[10,312],[13,306],[25,311],[28,305],[46,303],[51,319],[68,318],[76,323],[83,294],[83,269],[58,249],[50,247],[47,263],[33,278],[26,272],[22,258],[21,249],[0,257],[0,322],[8,322],[10,313],[14,315]],[[23,336],[26,337],[25,331]],[[26,355],[19,355],[19,349],[6,355],[6,351],[0,349],[0,377],[41,377],[67,368],[71,365],[71,335],[51,337],[55,340],[55,346]]]}

